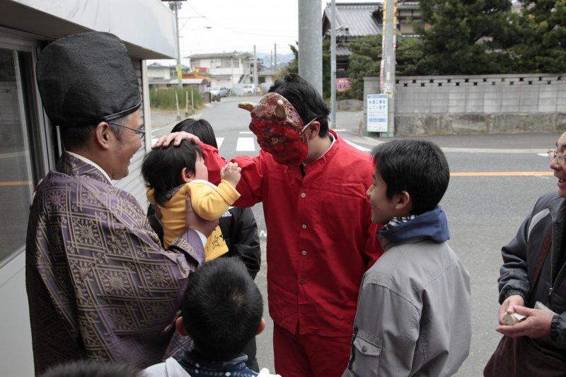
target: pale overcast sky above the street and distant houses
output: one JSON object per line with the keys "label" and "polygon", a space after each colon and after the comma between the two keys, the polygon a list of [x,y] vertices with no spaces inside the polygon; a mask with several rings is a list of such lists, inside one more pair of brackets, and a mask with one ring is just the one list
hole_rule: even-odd
{"label": "pale overcast sky above the street and distant houses", "polygon": [[[183,59],[204,52],[291,52],[299,39],[298,0],[187,0],[179,11],[180,50]],[[338,2],[375,2],[339,0]],[[321,1],[323,9],[327,0]],[[330,2],[328,1],[330,4]],[[161,61],[161,63],[174,61]]]}

